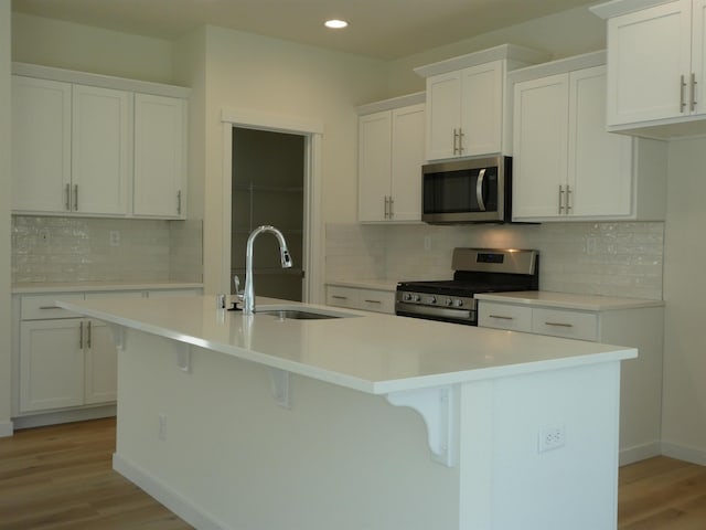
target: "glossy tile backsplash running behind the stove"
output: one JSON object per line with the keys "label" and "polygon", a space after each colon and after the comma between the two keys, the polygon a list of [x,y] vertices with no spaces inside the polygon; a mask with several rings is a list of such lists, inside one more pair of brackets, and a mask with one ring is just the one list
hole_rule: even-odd
{"label": "glossy tile backsplash running behind the stove", "polygon": [[450,278],[456,246],[537,248],[544,290],[662,299],[664,223],[329,224],[327,279]]}

